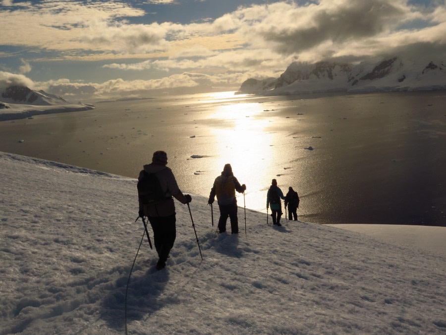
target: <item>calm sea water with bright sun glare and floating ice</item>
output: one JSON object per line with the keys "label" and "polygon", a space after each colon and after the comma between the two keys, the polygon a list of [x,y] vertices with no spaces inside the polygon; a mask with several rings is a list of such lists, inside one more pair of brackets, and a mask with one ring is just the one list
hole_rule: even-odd
{"label": "calm sea water with bright sun glare and floating ice", "polygon": [[0,151],[137,178],[165,150],[184,193],[208,197],[230,163],[241,207],[267,212],[274,178],[304,221],[446,225],[444,106],[444,91],[100,102],[1,122]]}

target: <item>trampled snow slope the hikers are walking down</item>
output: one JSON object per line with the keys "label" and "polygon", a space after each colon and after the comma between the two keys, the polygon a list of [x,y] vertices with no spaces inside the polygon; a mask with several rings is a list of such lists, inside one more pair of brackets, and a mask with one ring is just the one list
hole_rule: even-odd
{"label": "trampled snow slope the hikers are walking down", "polygon": [[240,233],[216,235],[192,194],[156,271],[135,179],[0,152],[0,183],[1,335],[446,331],[446,250],[427,238],[445,227],[423,246],[247,209],[245,233],[239,207]]}

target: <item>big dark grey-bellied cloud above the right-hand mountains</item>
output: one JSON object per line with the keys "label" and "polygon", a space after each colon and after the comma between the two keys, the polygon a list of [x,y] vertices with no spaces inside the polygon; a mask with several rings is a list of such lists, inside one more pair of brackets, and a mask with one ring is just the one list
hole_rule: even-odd
{"label": "big dark grey-bellied cloud above the right-hand mountains", "polygon": [[395,20],[409,14],[402,1],[320,0],[298,6],[292,2],[242,8],[240,33],[254,45],[284,54],[299,54],[329,42],[333,48],[349,41],[389,33]]}

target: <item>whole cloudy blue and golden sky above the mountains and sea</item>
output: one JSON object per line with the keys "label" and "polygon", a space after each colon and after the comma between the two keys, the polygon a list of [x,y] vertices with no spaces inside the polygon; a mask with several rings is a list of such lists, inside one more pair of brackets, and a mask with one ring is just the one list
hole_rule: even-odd
{"label": "whole cloudy blue and golden sky above the mountains and sea", "polygon": [[67,99],[237,90],[292,62],[446,59],[445,0],[1,0],[0,20],[0,87]]}

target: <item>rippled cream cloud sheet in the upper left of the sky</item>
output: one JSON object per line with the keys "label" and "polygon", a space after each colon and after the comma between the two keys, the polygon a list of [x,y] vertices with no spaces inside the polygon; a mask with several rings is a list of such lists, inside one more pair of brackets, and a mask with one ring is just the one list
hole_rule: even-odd
{"label": "rippled cream cloud sheet in the upper left of the sky", "polygon": [[[16,4],[14,3],[14,6]],[[10,46],[38,47],[47,50],[89,50],[111,51],[119,47],[122,40],[111,43],[107,48],[107,36],[102,29],[132,29],[124,22],[117,23],[122,17],[138,17],[144,11],[120,2],[107,1],[43,1],[28,3],[23,8],[1,10],[2,22],[0,44]],[[97,30],[96,30],[97,29]],[[30,33],[35,32],[35,33]],[[38,33],[37,33],[38,32]],[[147,34],[147,33],[146,33]],[[86,38],[90,35],[90,38]],[[95,36],[97,37],[95,38]],[[128,34],[127,34],[128,35]],[[140,41],[144,33],[135,34]],[[119,36],[117,36],[119,37]],[[104,43],[100,43],[104,41]],[[97,46],[94,43],[98,43]],[[103,48],[103,49],[101,49]],[[117,48],[119,50],[119,48]]]}

